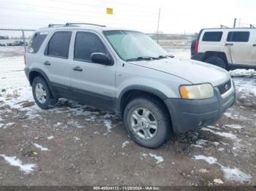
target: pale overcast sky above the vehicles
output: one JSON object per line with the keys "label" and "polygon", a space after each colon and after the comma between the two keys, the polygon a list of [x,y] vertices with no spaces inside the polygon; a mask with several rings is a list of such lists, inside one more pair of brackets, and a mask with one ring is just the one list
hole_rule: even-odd
{"label": "pale overcast sky above the vehicles", "polygon": [[[99,23],[146,33],[195,33],[200,28],[256,24],[256,0],[0,0],[0,28],[39,28],[48,23]],[[113,8],[113,15],[106,8]],[[245,25],[247,24],[247,25]]]}

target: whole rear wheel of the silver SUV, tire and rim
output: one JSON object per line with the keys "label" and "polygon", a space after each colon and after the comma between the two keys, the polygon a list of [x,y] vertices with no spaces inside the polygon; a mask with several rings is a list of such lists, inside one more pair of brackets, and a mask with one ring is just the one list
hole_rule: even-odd
{"label": "whole rear wheel of the silver SUV, tire and rim", "polygon": [[56,104],[47,82],[42,77],[35,77],[32,82],[32,92],[34,101],[41,109],[48,109],[49,106]]}

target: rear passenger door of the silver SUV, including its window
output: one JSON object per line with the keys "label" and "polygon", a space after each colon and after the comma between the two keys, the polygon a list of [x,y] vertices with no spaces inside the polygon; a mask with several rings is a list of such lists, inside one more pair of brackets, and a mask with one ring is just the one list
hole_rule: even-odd
{"label": "rear passenger door of the silver SUV, including its window", "polygon": [[45,47],[43,66],[53,86],[60,95],[70,93],[70,73],[72,63],[69,60],[69,44],[72,31],[56,31]]}

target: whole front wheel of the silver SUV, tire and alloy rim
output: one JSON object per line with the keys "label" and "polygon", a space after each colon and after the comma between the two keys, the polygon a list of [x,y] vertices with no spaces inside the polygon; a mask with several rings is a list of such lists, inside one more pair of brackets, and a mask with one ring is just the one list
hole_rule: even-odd
{"label": "whole front wheel of the silver SUV, tire and alloy rim", "polygon": [[140,146],[154,149],[170,136],[170,117],[165,106],[153,98],[135,98],[124,109],[127,133]]}

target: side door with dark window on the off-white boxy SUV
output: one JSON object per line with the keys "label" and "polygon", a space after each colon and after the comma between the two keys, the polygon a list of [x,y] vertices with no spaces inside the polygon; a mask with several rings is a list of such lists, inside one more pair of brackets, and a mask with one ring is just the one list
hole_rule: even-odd
{"label": "side door with dark window on the off-white boxy SUV", "polygon": [[228,31],[225,47],[230,53],[231,63],[251,64],[252,34],[249,30]]}

